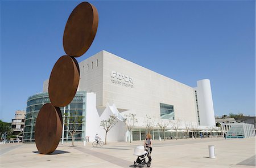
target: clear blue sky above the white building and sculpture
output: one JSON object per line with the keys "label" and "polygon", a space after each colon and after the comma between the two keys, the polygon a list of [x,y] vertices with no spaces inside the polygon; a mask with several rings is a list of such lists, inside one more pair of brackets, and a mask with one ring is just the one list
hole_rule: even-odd
{"label": "clear blue sky above the white building and sculpture", "polygon": [[[11,122],[64,55],[65,23],[81,1],[1,1],[0,118]],[[210,79],[216,115],[255,115],[255,1],[89,1],[101,50],[191,87]]]}

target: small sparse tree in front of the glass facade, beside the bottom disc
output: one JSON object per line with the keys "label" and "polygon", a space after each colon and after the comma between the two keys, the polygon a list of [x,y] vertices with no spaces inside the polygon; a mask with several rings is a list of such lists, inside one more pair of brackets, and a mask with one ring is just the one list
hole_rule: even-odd
{"label": "small sparse tree in front of the glass facade, beside the bottom disc", "polygon": [[72,136],[72,146],[75,147],[75,135],[79,134],[77,132],[80,130],[80,126],[82,125],[84,116],[78,115],[78,112],[75,111],[73,114],[64,113],[64,126],[66,127],[68,133]]}

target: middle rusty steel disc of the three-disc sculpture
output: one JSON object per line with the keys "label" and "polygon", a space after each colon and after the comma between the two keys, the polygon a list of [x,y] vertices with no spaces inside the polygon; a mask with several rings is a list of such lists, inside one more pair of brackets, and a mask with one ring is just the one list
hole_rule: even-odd
{"label": "middle rusty steel disc of the three-disc sculpture", "polygon": [[57,107],[67,106],[75,97],[79,85],[79,67],[72,57],[64,55],[52,68],[49,78],[49,99]]}

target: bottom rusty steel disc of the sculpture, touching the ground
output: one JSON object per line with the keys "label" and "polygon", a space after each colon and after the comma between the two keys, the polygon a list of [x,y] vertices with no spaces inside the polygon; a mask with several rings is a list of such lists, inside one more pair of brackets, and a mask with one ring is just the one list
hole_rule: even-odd
{"label": "bottom rusty steel disc of the sculpture, touching the ground", "polygon": [[39,153],[52,153],[59,144],[62,124],[56,109],[60,110],[52,104],[45,104],[36,118],[35,143]]}

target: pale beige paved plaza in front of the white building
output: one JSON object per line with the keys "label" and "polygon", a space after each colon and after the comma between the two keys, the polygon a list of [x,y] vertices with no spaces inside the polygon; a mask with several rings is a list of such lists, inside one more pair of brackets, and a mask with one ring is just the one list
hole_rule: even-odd
{"label": "pale beige paved plaza in front of the white building", "polygon": [[[143,141],[110,142],[93,148],[92,143],[59,144],[52,154],[39,154],[35,144],[1,144],[0,167],[133,167],[134,148]],[[214,145],[216,158],[209,158]],[[144,165],[143,167],[147,167]],[[153,141],[151,167],[255,167],[255,138],[180,139]]]}

